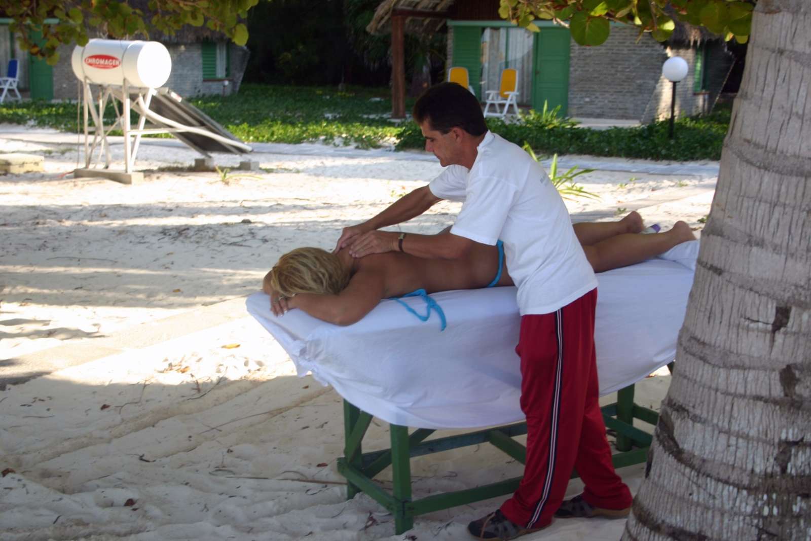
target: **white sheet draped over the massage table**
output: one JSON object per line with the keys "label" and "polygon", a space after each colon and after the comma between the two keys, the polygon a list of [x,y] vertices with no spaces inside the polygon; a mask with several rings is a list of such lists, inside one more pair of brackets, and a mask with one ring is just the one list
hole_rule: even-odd
{"label": "white sheet draped over the massage table", "polygon": [[[601,394],[674,359],[697,252],[697,241],[683,243],[597,276]],[[448,320],[441,333],[433,311],[423,322],[388,299],[347,327],[298,310],[273,316],[262,293],[248,297],[247,310],[290,354],[299,376],[312,372],[375,417],[408,427],[469,428],[523,419],[515,294],[514,287],[432,294]],[[422,298],[404,300],[425,313]]]}

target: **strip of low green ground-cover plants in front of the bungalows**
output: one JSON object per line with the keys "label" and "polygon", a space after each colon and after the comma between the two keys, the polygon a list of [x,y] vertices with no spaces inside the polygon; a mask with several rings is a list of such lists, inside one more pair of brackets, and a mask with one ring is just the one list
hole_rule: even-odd
{"label": "strip of low green ground-cover plants in front of the bungalows", "polygon": [[[424,148],[425,140],[413,120],[399,126],[388,120],[391,111],[387,88],[348,88],[338,92],[329,87],[293,87],[243,84],[236,96],[192,98],[191,103],[225,129],[249,143],[355,144],[375,148],[397,141],[398,150]],[[410,110],[412,101],[406,101]],[[75,103],[45,101],[8,102],[0,105],[0,122],[32,123],[77,131],[80,107]],[[676,138],[667,137],[667,121],[641,127],[611,128],[604,131],[575,127],[557,109],[522,115],[522,122],[488,118],[491,131],[516,144],[530,144],[537,152],[590,154],[649,158],[654,160],[718,160],[731,109],[721,109],[706,117],[676,121]],[[115,118],[112,105],[105,121]],[[134,115],[133,120],[137,120]],[[170,135],[162,135],[169,137]]]}

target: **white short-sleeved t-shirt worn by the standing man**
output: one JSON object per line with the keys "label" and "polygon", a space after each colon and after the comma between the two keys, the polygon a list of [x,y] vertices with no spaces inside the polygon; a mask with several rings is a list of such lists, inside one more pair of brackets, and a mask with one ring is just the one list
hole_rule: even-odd
{"label": "white short-sleeved t-shirt worn by the standing man", "polygon": [[470,171],[450,165],[428,186],[441,199],[464,201],[451,233],[504,241],[521,316],[551,313],[597,287],[563,200],[516,144],[487,131]]}

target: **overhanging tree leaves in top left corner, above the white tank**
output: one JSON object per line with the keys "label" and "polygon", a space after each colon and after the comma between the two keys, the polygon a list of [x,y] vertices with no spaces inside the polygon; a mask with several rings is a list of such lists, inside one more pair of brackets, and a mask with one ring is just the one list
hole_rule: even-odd
{"label": "overhanging tree leaves in top left corner, above the white tank", "polygon": [[[114,39],[148,39],[152,30],[171,36],[186,24],[205,25],[237,45],[245,45],[248,31],[240,19],[257,2],[149,0],[142,10],[131,6],[134,2],[122,0],[0,0],[0,11],[13,19],[11,32],[19,37],[23,49],[54,65],[59,60],[59,45],[85,45],[90,32]],[[57,22],[46,23],[49,19]]]}

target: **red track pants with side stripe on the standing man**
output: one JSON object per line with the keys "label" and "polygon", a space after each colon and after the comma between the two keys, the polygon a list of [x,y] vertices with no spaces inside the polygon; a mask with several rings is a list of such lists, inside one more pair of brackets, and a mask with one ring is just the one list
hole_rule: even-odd
{"label": "red track pants with side stripe on the standing man", "polygon": [[563,501],[573,468],[595,507],[624,509],[631,492],[615,473],[599,408],[594,356],[597,290],[551,314],[521,317],[521,410],[526,465],[518,490],[501,506],[512,522],[539,528]]}

